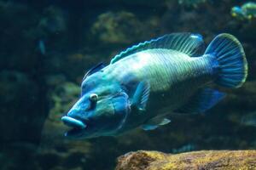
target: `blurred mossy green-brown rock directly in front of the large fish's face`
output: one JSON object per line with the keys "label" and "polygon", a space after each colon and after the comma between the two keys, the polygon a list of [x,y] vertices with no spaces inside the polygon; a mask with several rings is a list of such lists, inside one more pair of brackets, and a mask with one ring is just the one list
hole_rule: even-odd
{"label": "blurred mossy green-brown rock directly in front of the large fish's face", "polygon": [[49,76],[46,82],[51,88],[47,94],[51,105],[44,122],[40,147],[36,152],[36,162],[43,169],[80,169],[91,155],[91,144],[89,141],[65,138],[64,133],[69,128],[61,122],[61,116],[78,99],[80,87],[67,82],[63,75]]}

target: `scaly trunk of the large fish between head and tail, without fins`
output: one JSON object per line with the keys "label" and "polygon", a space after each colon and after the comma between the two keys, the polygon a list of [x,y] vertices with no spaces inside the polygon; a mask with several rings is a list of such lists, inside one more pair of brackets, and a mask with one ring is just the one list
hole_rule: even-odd
{"label": "scaly trunk of the large fish between head and tail, without fins", "polygon": [[[145,108],[147,113],[135,114],[136,120],[143,123],[154,116],[161,116],[160,110],[171,112],[178,109],[198,88],[211,82],[214,72],[210,66],[212,62],[214,60],[209,56],[191,58],[175,50],[149,49],[120,59],[103,71],[106,71],[109,79],[117,79],[118,82],[128,80],[124,82],[127,83],[125,86],[130,86],[131,82],[148,81],[150,95]],[[189,88],[187,83],[191,84]],[[167,113],[164,111],[162,114]],[[133,118],[127,126],[137,126]]]}

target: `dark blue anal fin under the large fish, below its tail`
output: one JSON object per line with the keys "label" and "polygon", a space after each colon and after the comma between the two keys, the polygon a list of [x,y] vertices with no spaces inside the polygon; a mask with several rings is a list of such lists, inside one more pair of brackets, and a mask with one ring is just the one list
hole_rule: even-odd
{"label": "dark blue anal fin under the large fish, below its tail", "polygon": [[216,105],[225,96],[224,93],[212,88],[199,89],[185,105],[177,109],[177,113],[203,113]]}

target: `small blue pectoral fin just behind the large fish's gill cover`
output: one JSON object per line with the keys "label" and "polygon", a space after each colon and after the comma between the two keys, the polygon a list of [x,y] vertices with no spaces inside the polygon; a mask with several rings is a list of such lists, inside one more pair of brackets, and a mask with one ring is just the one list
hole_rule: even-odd
{"label": "small blue pectoral fin just behind the large fish's gill cover", "polygon": [[132,98],[132,105],[136,105],[139,111],[144,111],[150,92],[149,82],[140,82]]}

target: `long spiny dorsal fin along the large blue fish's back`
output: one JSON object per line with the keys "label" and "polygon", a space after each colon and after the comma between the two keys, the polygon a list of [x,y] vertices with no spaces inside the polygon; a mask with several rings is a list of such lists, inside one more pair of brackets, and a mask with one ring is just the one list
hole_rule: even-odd
{"label": "long spiny dorsal fin along the large blue fish's back", "polygon": [[191,57],[197,57],[203,54],[205,43],[200,34],[193,34],[189,32],[167,34],[163,37],[141,42],[131,48],[127,48],[125,51],[114,56],[113,59],[111,59],[110,64],[113,64],[128,55],[154,48],[173,49],[178,52],[188,54]]}

